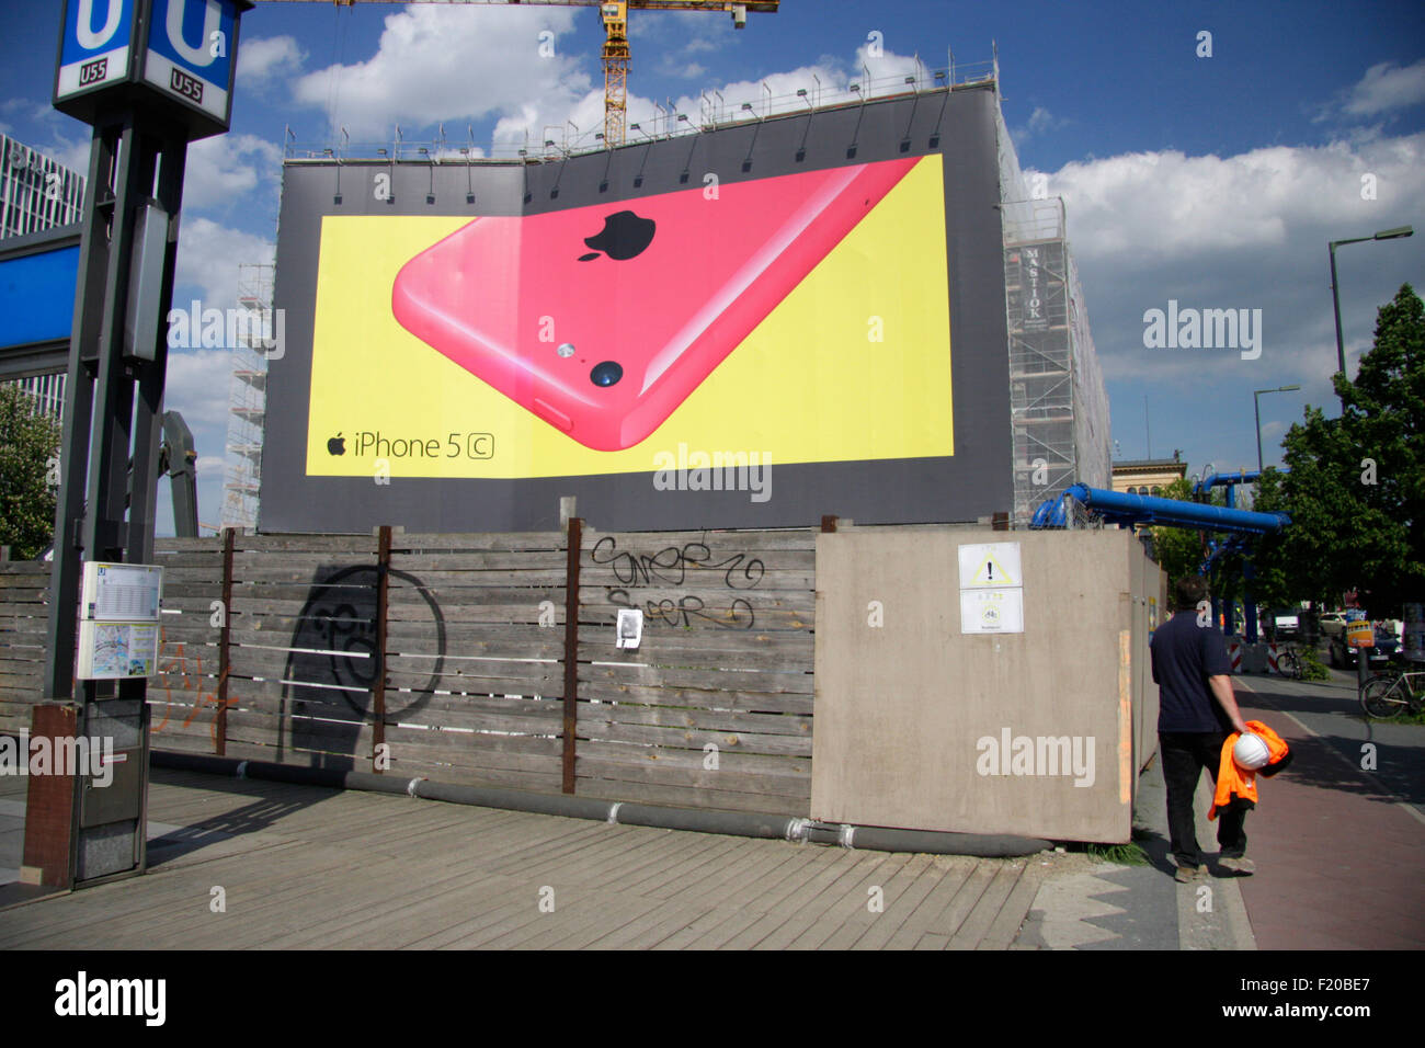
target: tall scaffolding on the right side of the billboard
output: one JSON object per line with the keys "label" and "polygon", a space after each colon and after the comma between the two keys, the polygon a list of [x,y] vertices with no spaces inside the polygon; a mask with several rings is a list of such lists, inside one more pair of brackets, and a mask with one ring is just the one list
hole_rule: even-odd
{"label": "tall scaffolding on the right side of the billboard", "polygon": [[1109,399],[1063,201],[1012,200],[1003,215],[1015,522],[1026,525],[1074,482],[1109,485]]}

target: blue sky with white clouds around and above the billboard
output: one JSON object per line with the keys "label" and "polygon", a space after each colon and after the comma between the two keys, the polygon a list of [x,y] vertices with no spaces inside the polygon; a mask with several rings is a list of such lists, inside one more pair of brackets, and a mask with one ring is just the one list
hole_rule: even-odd
{"label": "blue sky with white clouds around and above the billboard", "polygon": [[[57,0],[0,0],[0,130],[84,168],[87,128],[50,108]],[[1103,365],[1119,458],[1181,449],[1193,472],[1255,465],[1307,404],[1335,413],[1327,242],[1338,252],[1348,361],[1402,282],[1425,287],[1425,17],[1418,3],[1019,3],[784,0],[734,31],[722,14],[631,14],[630,120],[797,86],[844,88],[915,67],[988,61],[1022,167],[1062,195]],[[1200,57],[1201,33],[1211,56]],[[543,38],[553,54],[536,57]],[[872,34],[879,34],[874,37]],[[882,57],[871,56],[878,38]],[[542,135],[601,113],[594,9],[258,3],[244,17],[232,133],[190,151],[175,301],[228,305],[238,261],[269,261],[285,128],[304,143]],[[549,48],[546,48],[549,50]],[[681,101],[680,101],[681,100]],[[1362,198],[1369,175],[1374,200]],[[1144,346],[1144,312],[1261,309],[1255,359]],[[1354,364],[1349,365],[1354,371]],[[177,354],[168,405],[200,451],[200,510],[221,512],[221,351]],[[167,515],[167,492],[161,513]],[[160,516],[165,520],[167,516]]]}

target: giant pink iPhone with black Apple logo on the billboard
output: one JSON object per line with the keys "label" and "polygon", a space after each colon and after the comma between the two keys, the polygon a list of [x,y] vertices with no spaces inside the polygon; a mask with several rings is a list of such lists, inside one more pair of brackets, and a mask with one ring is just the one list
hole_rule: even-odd
{"label": "giant pink iPhone with black Apple logo on the billboard", "polygon": [[476,218],[412,258],[410,334],[571,439],[646,439],[916,158]]}

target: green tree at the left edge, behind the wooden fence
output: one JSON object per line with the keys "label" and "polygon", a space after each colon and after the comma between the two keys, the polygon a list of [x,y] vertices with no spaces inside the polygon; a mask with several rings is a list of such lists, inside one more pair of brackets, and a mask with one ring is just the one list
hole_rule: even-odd
{"label": "green tree at the left edge, behind the wooden fence", "polygon": [[0,546],[30,560],[54,535],[53,465],[60,426],[34,413],[34,401],[14,384],[0,384]]}

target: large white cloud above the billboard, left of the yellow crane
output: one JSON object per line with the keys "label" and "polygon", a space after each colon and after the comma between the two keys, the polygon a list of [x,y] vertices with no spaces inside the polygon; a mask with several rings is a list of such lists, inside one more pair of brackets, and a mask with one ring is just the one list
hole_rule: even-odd
{"label": "large white cloud above the billboard, left of the yellow crane", "polygon": [[323,108],[333,128],[345,125],[356,140],[386,138],[402,121],[425,127],[526,106],[571,108],[591,86],[583,56],[560,50],[576,17],[536,7],[410,7],[386,17],[369,60],[309,73],[294,96]]}

